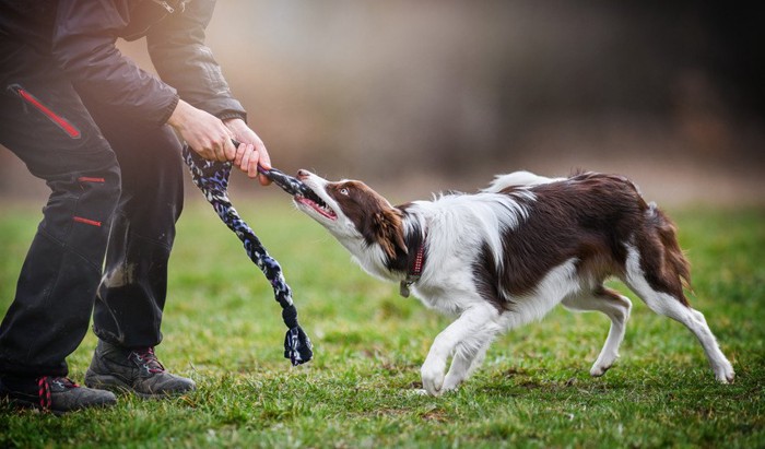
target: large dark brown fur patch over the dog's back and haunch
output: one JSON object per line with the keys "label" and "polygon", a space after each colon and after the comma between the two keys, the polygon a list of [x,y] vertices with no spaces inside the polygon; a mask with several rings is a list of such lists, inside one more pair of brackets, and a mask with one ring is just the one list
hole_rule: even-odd
{"label": "large dark brown fur patch over the dog's back and haunch", "polygon": [[673,227],[660,211],[651,218],[648,205],[627,179],[586,173],[530,191],[537,201],[527,201],[529,218],[502,236],[502,270],[497,269],[499,261],[491,260],[487,247],[473,265],[486,299],[511,308],[506,294],[531,293],[551,269],[570,259],[578,261],[580,275],[596,282],[621,276],[626,261],[624,244],[634,235],[651,286],[686,304],[678,285],[687,279],[687,262]]}

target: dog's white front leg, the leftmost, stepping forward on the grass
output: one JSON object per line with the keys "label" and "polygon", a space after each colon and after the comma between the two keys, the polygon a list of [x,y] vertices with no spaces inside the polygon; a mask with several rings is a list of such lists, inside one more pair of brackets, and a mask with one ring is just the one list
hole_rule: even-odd
{"label": "dog's white front leg, the leftmost, stepping forward on the grass", "polygon": [[[439,395],[444,391],[457,387],[467,377],[473,358],[480,354],[478,351],[480,345],[475,347],[476,351],[472,351],[472,354],[461,354],[460,352],[460,354],[455,356],[457,366],[452,364],[449,370],[448,382],[444,381],[446,361],[455,352],[457,345],[464,343],[472,345],[472,341],[474,341],[476,335],[487,334],[485,345],[489,345],[495,332],[487,332],[487,330],[495,328],[493,320],[496,317],[497,311],[492,306],[473,305],[436,336],[420,370],[423,388],[428,394]],[[483,341],[484,339],[480,340]]]}

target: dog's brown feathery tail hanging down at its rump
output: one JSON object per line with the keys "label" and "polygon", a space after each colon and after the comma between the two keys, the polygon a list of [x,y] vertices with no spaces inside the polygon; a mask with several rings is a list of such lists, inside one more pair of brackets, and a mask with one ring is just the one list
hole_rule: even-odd
{"label": "dog's brown feathery tail hanging down at its rump", "polygon": [[646,274],[659,290],[690,306],[684,288],[691,290],[691,263],[678,243],[678,227],[652,202],[648,204],[645,214],[647,238],[640,252],[650,271]]}

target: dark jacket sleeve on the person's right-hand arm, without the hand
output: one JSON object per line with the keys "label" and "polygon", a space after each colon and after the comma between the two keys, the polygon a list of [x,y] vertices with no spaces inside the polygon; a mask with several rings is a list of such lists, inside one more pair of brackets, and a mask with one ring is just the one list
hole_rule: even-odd
{"label": "dark jacket sleeve on the person's right-hand arm, without the hand", "polygon": [[178,90],[180,97],[221,119],[242,118],[246,111],[232,96],[221,67],[204,44],[214,0],[193,0],[146,35],[149,55],[162,80]]}

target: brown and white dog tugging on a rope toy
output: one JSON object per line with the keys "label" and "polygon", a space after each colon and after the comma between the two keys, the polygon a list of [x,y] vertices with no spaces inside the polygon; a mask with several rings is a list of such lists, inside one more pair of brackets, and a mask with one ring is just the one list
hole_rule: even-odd
{"label": "brown and white dog tugging on a rope toy", "polygon": [[674,225],[623,177],[584,173],[553,179],[517,172],[474,194],[398,206],[361,181],[330,182],[307,170],[297,177],[316,194],[295,197],[297,208],[364,270],[401,282],[404,296],[411,287],[426,306],[458,316],[435,339],[422,366],[431,394],[457,388],[499,332],[541,319],[557,304],[611,319],[590,369],[602,376],[619,356],[632,307],[603,286],[610,276],[657,314],[685,324],[717,380],[733,381],[733,368],[704,316],[683,294],[688,263]]}

